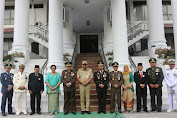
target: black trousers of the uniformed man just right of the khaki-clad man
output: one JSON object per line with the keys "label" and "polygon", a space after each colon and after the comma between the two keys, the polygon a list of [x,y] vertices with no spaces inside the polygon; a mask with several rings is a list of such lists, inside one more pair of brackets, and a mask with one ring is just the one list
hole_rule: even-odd
{"label": "black trousers of the uniformed man just right of the khaki-clad man", "polygon": [[97,91],[98,94],[98,112],[106,112],[107,91]]}

